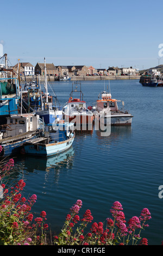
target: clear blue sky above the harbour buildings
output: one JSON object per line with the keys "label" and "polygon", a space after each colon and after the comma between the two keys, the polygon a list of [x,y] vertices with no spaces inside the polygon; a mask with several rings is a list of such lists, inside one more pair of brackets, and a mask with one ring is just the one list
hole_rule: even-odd
{"label": "clear blue sky above the harbour buildings", "polygon": [[1,3],[0,43],[12,65],[163,64],[162,1],[28,0]]}

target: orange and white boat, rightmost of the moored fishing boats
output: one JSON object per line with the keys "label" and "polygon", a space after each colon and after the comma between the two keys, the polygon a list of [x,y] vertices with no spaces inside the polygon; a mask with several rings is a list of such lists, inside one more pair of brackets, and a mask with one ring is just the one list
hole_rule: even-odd
{"label": "orange and white boat, rightmost of the moored fishing boats", "polygon": [[[98,99],[93,108],[95,121],[99,120],[103,125],[131,125],[133,115],[123,108],[119,109],[117,102],[121,100],[112,99],[111,94],[104,91],[102,99]],[[124,106],[124,102],[122,105]]]}

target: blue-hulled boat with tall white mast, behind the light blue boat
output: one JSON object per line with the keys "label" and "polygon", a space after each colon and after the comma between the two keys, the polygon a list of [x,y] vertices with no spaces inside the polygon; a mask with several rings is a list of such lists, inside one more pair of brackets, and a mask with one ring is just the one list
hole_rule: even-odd
{"label": "blue-hulled boat with tall white mast, behind the light blue boat", "polygon": [[[47,76],[46,76],[46,60],[44,58],[45,63],[45,93],[42,97],[41,102],[41,108],[36,109],[34,113],[38,114],[41,119],[45,122],[45,124],[53,123],[56,119],[62,120],[63,114],[62,114],[62,107],[57,106],[56,104],[53,104],[53,97],[49,96],[48,94],[48,88],[47,88]],[[55,96],[55,99],[57,96]]]}

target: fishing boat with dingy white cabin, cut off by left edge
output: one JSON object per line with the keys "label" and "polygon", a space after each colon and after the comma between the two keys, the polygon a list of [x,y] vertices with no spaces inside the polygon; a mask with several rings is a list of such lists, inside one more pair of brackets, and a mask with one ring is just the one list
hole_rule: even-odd
{"label": "fishing boat with dingy white cabin, cut off by left edge", "polygon": [[7,117],[7,124],[0,126],[0,157],[24,154],[24,142],[40,136],[42,129],[43,123],[39,115],[10,115]]}

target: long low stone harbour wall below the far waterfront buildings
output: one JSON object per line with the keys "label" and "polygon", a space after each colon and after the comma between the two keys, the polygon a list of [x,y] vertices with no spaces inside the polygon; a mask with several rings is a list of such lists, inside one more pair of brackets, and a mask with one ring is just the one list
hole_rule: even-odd
{"label": "long low stone harbour wall below the far waterfront buildings", "polygon": [[[93,81],[93,80],[140,80],[141,76],[72,76],[72,80],[80,80],[80,81]],[[48,76],[47,75],[47,81],[49,82],[54,82],[56,76]],[[30,82],[32,80],[32,76],[26,76],[23,77],[22,79],[26,82]],[[45,81],[44,76],[40,76],[40,82]]]}

